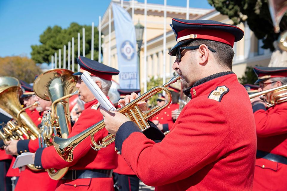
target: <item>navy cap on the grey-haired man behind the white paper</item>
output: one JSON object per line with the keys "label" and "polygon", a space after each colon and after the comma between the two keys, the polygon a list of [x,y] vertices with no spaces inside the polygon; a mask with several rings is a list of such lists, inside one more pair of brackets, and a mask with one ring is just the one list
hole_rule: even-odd
{"label": "navy cap on the grey-haired man behind the white paper", "polygon": [[118,75],[120,73],[120,71],[115,68],[84,56],[79,56],[77,61],[80,65],[80,72],[74,73],[73,75],[75,76],[82,75],[84,71],[88,71],[92,76],[98,76],[105,80],[112,80],[113,75]]}

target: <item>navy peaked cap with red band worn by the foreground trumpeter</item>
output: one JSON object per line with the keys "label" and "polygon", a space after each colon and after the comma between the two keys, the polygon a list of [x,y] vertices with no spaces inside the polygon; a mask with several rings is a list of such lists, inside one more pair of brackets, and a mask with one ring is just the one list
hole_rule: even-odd
{"label": "navy peaked cap with red band worn by the foreground trumpeter", "polygon": [[231,24],[212,20],[172,19],[172,30],[177,44],[168,53],[175,56],[176,50],[193,40],[204,39],[228,44],[233,47],[234,42],[244,36],[243,30]]}

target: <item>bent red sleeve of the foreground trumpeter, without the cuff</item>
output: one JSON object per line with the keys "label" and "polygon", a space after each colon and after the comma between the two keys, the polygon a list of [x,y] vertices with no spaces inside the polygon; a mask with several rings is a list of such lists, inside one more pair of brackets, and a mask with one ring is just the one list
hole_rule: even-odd
{"label": "bent red sleeve of the foreground trumpeter, without the cuff", "polygon": [[230,124],[225,111],[214,100],[196,102],[185,109],[160,143],[155,144],[141,132],[131,133],[123,140],[122,155],[147,185],[159,186],[187,178],[227,153]]}

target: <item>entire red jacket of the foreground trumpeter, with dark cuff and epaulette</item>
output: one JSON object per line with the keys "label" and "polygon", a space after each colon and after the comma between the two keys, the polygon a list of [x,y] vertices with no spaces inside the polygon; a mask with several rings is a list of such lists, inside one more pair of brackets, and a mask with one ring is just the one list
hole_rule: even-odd
{"label": "entire red jacket of the foreground trumpeter, with dark cuff and epaulette", "polygon": [[256,131],[248,94],[232,72],[201,81],[161,142],[129,121],[117,132],[116,147],[155,190],[252,190]]}

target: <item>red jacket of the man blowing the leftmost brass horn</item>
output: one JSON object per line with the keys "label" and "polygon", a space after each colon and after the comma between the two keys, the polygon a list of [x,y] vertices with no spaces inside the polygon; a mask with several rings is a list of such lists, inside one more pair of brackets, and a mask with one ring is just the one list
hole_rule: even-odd
{"label": "red jacket of the man blowing the leftmost brass horn", "polygon": [[[42,121],[43,113],[36,110],[26,110],[29,117],[38,126]],[[17,143],[18,153],[32,152],[39,148],[38,139],[35,140],[19,140]],[[22,151],[22,152],[21,152]],[[11,165],[12,166],[12,165]],[[19,169],[14,169],[19,171]],[[50,191],[55,190],[58,181],[52,180],[45,170],[33,171],[27,166],[24,171],[21,171],[19,180],[16,184],[15,191]]]}

